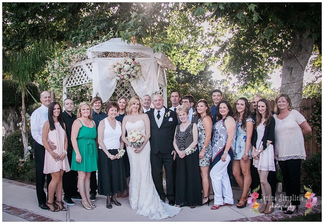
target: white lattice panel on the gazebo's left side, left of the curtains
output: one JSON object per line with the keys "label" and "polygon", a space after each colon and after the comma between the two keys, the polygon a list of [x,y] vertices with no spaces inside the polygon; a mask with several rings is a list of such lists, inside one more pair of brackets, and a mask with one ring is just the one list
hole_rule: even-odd
{"label": "white lattice panel on the gazebo's left side, left of the curtains", "polygon": [[81,85],[92,81],[90,78],[92,75],[92,63],[73,67],[70,69],[70,72],[71,75],[67,78],[65,87]]}

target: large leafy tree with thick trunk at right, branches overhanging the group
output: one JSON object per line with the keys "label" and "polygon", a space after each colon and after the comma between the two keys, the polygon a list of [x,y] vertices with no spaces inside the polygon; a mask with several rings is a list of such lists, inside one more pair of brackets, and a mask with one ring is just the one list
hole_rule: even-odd
{"label": "large leafy tree with thick trunk at right, branches overhanging the group", "polygon": [[295,109],[300,109],[304,71],[314,45],[321,54],[321,3],[175,3],[157,19],[140,20],[150,15],[145,12],[122,23],[127,31],[122,37],[138,42],[158,37],[152,30],[168,20],[170,11],[190,12],[198,23],[208,23],[213,46],[226,31],[230,34],[211,56],[221,59],[222,73],[236,76],[242,88],[261,84],[282,67],[280,91],[290,95]]}

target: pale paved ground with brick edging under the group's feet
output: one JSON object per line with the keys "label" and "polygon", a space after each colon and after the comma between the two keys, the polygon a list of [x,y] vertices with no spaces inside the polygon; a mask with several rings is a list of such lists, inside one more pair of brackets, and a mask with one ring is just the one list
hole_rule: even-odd
{"label": "pale paved ground with brick edging under the group's feet", "polygon": [[[192,209],[183,207],[178,215],[163,220],[151,220],[147,217],[137,215],[136,210],[130,207],[129,199],[119,198],[122,206],[106,208],[106,197],[97,196],[95,204],[97,208],[86,210],[82,208],[80,201],[75,201],[75,206],[69,206],[68,211],[52,212],[40,209],[36,198],[35,186],[22,184],[16,181],[2,180],[2,221],[272,221],[291,216],[284,215],[279,208],[270,215],[258,215],[253,213],[249,207],[238,209],[236,206],[225,206],[218,210],[211,210],[209,206],[197,206]],[[241,191],[233,189],[233,197],[236,202]],[[276,196],[278,199],[280,195]],[[258,203],[262,203],[258,200]],[[282,204],[283,202],[278,202]],[[300,208],[305,207],[306,200]],[[321,201],[313,212],[321,212]],[[299,209],[294,216],[301,216],[306,208]]]}

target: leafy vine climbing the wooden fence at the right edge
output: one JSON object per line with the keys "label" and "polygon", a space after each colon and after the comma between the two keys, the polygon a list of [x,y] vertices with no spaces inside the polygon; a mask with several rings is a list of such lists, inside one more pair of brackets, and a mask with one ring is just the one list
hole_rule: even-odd
{"label": "leafy vine climbing the wooden fence at the right edge", "polygon": [[315,101],[313,104],[314,112],[309,115],[309,125],[317,130],[314,134],[315,141],[318,146],[322,146],[322,104],[319,101]]}

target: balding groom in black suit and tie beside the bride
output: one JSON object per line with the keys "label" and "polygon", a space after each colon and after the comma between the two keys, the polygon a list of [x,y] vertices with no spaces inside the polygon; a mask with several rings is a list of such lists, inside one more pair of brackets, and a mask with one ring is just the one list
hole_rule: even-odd
{"label": "balding groom in black suit and tie beside the bride", "polygon": [[[154,109],[146,112],[151,125],[151,169],[153,182],[161,200],[167,197],[169,205],[175,205],[175,179],[172,169],[176,151],[173,147],[173,137],[178,124],[177,113],[163,106],[161,95],[153,96]],[[163,189],[163,165],[167,184],[167,194]]]}

